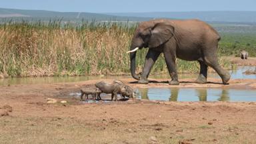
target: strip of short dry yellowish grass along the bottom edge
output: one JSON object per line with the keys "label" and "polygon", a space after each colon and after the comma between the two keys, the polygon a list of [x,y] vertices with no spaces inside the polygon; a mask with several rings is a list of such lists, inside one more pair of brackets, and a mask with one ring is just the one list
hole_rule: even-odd
{"label": "strip of short dry yellowish grass along the bottom edge", "polygon": [[[138,122],[139,123],[139,122]],[[147,123],[147,122],[145,122]],[[70,117],[1,117],[1,143],[255,143],[255,125],[85,121]],[[251,133],[250,133],[251,131]]]}

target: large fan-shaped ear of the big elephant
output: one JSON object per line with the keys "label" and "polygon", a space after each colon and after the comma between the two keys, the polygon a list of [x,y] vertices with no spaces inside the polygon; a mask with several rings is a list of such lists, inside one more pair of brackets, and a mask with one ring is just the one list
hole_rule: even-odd
{"label": "large fan-shaped ear of the big elephant", "polygon": [[158,47],[173,37],[174,27],[165,23],[157,23],[151,29],[149,48]]}

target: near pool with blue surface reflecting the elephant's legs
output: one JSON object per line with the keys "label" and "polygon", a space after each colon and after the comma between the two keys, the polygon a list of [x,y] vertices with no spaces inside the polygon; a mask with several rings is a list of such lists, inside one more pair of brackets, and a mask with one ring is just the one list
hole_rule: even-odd
{"label": "near pool with blue surface reflecting the elephant's legs", "polygon": [[256,101],[256,90],[148,88],[136,89],[138,99],[160,101]]}

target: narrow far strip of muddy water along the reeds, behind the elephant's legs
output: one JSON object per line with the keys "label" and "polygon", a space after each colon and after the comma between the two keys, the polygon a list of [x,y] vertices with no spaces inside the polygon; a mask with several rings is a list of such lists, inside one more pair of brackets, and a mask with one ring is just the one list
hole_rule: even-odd
{"label": "narrow far strip of muddy water along the reeds, behind the elephant's legs", "polygon": [[[231,79],[256,79],[256,75],[245,75],[243,72],[247,70],[253,70],[255,67],[245,66],[238,67],[237,70],[229,71],[231,73]],[[179,79],[196,79],[198,76],[195,74],[179,74]],[[150,75],[153,79],[170,79],[169,75]],[[209,73],[208,77],[219,77],[217,73]],[[0,85],[26,85],[26,84],[38,84],[38,83],[67,83],[77,81],[87,81],[94,79],[124,79],[131,78],[131,76],[80,76],[80,77],[24,77],[24,78],[9,78],[0,79]]]}

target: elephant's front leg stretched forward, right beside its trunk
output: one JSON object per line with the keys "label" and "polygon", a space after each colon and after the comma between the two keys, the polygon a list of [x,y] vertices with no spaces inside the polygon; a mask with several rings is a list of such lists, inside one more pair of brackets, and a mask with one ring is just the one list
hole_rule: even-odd
{"label": "elephant's front leg stretched forward, right beside its trunk", "polygon": [[161,52],[159,51],[153,51],[149,49],[147,52],[147,56],[145,59],[145,64],[143,67],[141,79],[138,81],[138,83],[147,84],[149,81],[147,80],[147,77],[149,77],[149,73],[151,71],[151,68],[153,67],[155,61],[157,61],[157,58],[159,57]]}

